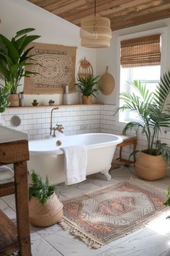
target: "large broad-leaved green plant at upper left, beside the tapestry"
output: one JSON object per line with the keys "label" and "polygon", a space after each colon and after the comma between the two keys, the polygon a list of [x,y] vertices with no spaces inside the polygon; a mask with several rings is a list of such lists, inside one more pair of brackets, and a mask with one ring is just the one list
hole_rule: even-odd
{"label": "large broad-leaved green plant at upper left, beside the tapestry", "polygon": [[36,74],[24,69],[27,65],[37,64],[37,61],[32,59],[32,55],[29,55],[34,47],[28,48],[32,41],[40,38],[40,35],[27,35],[34,30],[34,28],[19,30],[11,40],[0,34],[0,76],[5,84],[11,82],[12,94],[17,93],[22,77]]}

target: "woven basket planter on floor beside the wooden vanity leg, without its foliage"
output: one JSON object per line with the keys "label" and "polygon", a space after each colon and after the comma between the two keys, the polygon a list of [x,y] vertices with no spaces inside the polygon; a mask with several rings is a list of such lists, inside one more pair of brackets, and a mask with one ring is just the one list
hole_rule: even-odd
{"label": "woven basket planter on floor beside the wooden vanity leg, without its foliage", "polygon": [[63,216],[63,204],[53,193],[47,202],[42,205],[37,197],[31,197],[29,202],[30,223],[33,226],[51,226],[61,220]]}

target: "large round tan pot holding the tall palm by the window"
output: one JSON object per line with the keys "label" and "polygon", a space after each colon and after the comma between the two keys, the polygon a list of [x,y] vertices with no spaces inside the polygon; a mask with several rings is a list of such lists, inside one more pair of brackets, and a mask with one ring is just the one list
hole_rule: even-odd
{"label": "large round tan pot holding the tall palm by the window", "polygon": [[148,181],[162,179],[166,175],[167,163],[161,155],[148,155],[141,151],[135,163],[138,176]]}

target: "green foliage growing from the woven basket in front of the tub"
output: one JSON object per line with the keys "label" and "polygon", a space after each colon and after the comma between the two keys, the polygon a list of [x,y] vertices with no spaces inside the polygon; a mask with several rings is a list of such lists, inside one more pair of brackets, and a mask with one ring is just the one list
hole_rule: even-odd
{"label": "green foliage growing from the woven basket in front of the tub", "polygon": [[42,181],[40,174],[36,174],[32,171],[31,174],[32,184],[29,187],[29,197],[37,197],[42,205],[47,202],[48,197],[53,194],[54,186],[51,186],[48,182],[48,176],[45,182]]}

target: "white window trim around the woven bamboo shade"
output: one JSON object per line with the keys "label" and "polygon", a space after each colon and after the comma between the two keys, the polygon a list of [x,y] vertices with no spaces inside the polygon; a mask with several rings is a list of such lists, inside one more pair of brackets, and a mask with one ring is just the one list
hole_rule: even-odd
{"label": "white window trim around the woven bamboo shade", "polygon": [[[167,52],[167,27],[158,27],[152,30],[146,30],[138,33],[131,33],[127,35],[121,35],[117,38],[117,97],[116,97],[116,106],[120,107],[120,42],[122,40],[128,40],[133,38],[140,38],[142,36],[147,35],[155,35],[161,34],[161,77],[163,76],[164,72],[166,72],[166,52]],[[125,114],[123,113],[125,116]],[[137,119],[136,119],[137,120]],[[120,125],[125,125],[128,121],[120,121],[120,114],[116,116],[116,122]]]}

